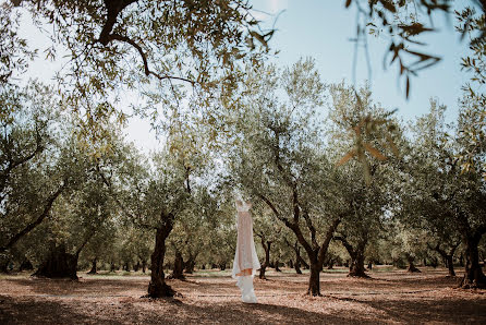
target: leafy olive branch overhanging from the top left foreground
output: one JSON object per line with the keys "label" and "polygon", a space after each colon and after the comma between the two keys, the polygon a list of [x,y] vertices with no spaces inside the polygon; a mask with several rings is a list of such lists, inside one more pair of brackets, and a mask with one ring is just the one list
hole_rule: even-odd
{"label": "leafy olive branch overhanging from the top left foreground", "polygon": [[[259,29],[245,0],[19,4],[2,4],[2,22],[12,28],[2,38],[10,50],[2,51],[0,73],[7,77],[28,63],[21,55],[29,53],[29,47],[16,36],[17,16],[27,10],[51,39],[47,56],[57,60],[65,53],[56,80],[64,104],[78,113],[78,124],[94,141],[106,135],[110,123],[124,123],[127,112],[120,104],[129,99],[126,93],[141,97],[142,115],[150,116],[186,86],[193,93],[231,92],[239,65],[260,60],[272,35]],[[125,106],[130,104],[134,101]]]}

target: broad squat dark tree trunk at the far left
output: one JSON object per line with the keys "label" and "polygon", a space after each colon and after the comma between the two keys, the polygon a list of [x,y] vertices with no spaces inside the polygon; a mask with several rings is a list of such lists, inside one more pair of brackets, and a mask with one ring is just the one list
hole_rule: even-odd
{"label": "broad squat dark tree trunk at the far left", "polygon": [[47,278],[70,278],[77,280],[77,254],[65,252],[65,245],[53,246],[46,261],[33,276]]}

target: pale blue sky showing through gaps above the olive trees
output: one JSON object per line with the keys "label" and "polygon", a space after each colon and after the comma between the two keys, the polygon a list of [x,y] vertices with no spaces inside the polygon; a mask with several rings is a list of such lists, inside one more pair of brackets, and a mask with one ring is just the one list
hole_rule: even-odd
{"label": "pale blue sky showing through gaps above the olive trees", "polygon": [[[467,2],[470,1],[454,3],[460,8]],[[323,82],[352,82],[354,44],[349,39],[355,36],[356,12],[354,9],[347,10],[344,0],[251,0],[251,3],[255,9],[270,14],[255,12],[258,19],[266,20],[270,26],[275,15],[284,10],[276,24],[278,31],[269,43],[272,49],[280,50],[278,57],[272,59],[274,62],[283,67],[293,64],[301,57],[313,57]],[[382,38],[368,37],[373,69],[369,82],[374,99],[386,108],[398,108],[397,116],[405,120],[426,112],[430,97],[437,97],[439,103],[448,106],[448,121],[453,121],[457,117],[461,86],[467,80],[466,74],[460,71],[460,59],[467,46],[460,41],[453,29],[453,16],[449,23],[444,15],[436,16],[435,23],[440,33],[429,34],[421,40],[429,45],[426,52],[439,55],[442,60],[420,72],[418,77],[412,79],[408,100],[403,81],[398,80],[398,68],[384,70],[382,60],[389,43]],[[46,48],[47,39],[32,24],[27,23],[23,32],[34,46]],[[356,83],[362,85],[369,79],[363,50],[360,50],[357,58]],[[41,55],[32,64],[28,75],[47,81],[60,65],[60,62],[46,62]],[[129,140],[145,151],[160,146],[146,121],[132,119],[125,132]]]}

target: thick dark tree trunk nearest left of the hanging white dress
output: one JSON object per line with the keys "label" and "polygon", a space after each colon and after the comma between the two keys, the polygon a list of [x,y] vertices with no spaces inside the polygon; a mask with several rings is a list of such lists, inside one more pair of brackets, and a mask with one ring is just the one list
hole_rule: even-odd
{"label": "thick dark tree trunk nearest left of the hanging white dress", "polygon": [[148,284],[148,297],[173,297],[175,291],[166,284],[163,274],[163,257],[166,256],[166,239],[172,231],[173,217],[163,218],[163,226],[157,228],[154,252],[151,253],[150,282]]}

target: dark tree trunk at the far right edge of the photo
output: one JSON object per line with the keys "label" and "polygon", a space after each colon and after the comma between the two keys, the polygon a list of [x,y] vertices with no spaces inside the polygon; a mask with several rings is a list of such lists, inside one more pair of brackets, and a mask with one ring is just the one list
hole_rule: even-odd
{"label": "dark tree trunk at the far right edge of the photo", "polygon": [[465,273],[462,279],[462,288],[486,288],[486,276],[479,265],[481,234],[470,236],[465,239]]}

